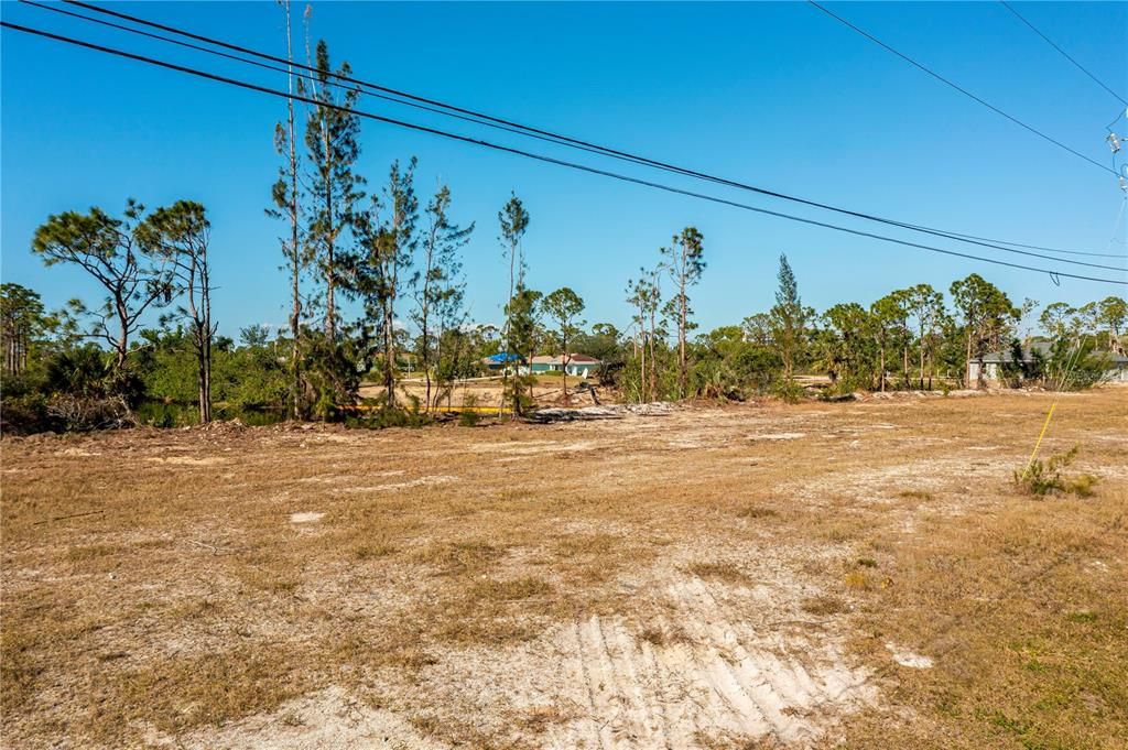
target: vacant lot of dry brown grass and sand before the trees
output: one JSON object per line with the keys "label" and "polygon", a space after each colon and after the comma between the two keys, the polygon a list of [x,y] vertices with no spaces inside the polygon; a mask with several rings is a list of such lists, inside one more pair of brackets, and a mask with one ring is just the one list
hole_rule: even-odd
{"label": "vacant lot of dry brown grass and sand before the trees", "polygon": [[6,440],[6,747],[1122,748],[1128,391]]}

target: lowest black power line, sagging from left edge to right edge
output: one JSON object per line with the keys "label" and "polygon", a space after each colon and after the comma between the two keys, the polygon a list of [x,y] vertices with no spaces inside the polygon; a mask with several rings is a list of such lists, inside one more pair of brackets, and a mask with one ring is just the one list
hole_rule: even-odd
{"label": "lowest black power line, sagging from left edge to right edge", "polygon": [[928,252],[933,252],[933,253],[940,253],[940,254],[943,254],[943,255],[950,255],[950,256],[953,256],[953,257],[968,258],[968,259],[971,259],[971,261],[980,261],[982,263],[990,263],[990,264],[994,264],[994,265],[1007,266],[1007,267],[1011,267],[1011,268],[1020,268],[1020,270],[1023,270],[1023,271],[1033,271],[1036,273],[1045,273],[1045,274],[1049,274],[1051,276],[1059,276],[1059,277],[1067,277],[1067,279],[1077,279],[1077,280],[1081,280],[1081,281],[1095,281],[1095,282],[1102,282],[1102,283],[1109,283],[1109,284],[1123,284],[1123,285],[1128,285],[1128,281],[1120,281],[1120,280],[1117,280],[1117,279],[1103,279],[1103,277],[1099,277],[1099,276],[1084,276],[1084,275],[1079,275],[1079,274],[1066,273],[1066,272],[1063,272],[1063,271],[1052,271],[1052,270],[1049,270],[1049,268],[1039,268],[1039,267],[1034,267],[1034,266],[1022,265],[1022,264],[1019,264],[1019,263],[1010,263],[1007,261],[999,261],[999,259],[996,259],[996,258],[985,258],[985,257],[980,257],[980,256],[976,256],[976,255],[970,255],[970,254],[967,254],[967,253],[960,253],[960,252],[957,252],[957,250],[950,250],[950,249],[933,247],[931,245],[922,245],[922,244],[918,244],[918,242],[913,242],[913,241],[908,241],[908,240],[901,240],[901,239],[897,239],[897,238],[893,238],[893,237],[887,237],[884,235],[875,235],[873,232],[862,231],[862,230],[858,230],[858,229],[851,229],[848,227],[841,227],[839,224],[831,224],[831,223],[828,223],[828,222],[825,222],[825,221],[818,221],[816,219],[808,219],[808,218],[804,218],[804,217],[796,217],[794,214],[787,214],[787,213],[783,213],[783,212],[779,212],[779,211],[772,211],[772,210],[768,210],[768,209],[763,209],[763,208],[759,208],[759,206],[749,205],[747,203],[740,203],[740,202],[737,202],[737,201],[730,201],[728,198],[722,198],[722,197],[717,197],[717,196],[713,196],[713,195],[706,195],[706,194],[703,194],[703,193],[696,193],[694,191],[687,191],[687,189],[684,189],[684,188],[680,188],[680,187],[673,187],[671,185],[664,185],[664,184],[661,184],[661,183],[654,183],[654,182],[646,180],[646,179],[641,179],[641,178],[637,178],[637,177],[631,177],[628,175],[623,175],[623,174],[618,174],[618,173],[614,173],[614,171],[608,171],[606,169],[599,169],[597,167],[591,167],[591,166],[588,166],[588,165],[582,165],[582,164],[574,162],[574,161],[566,161],[566,160],[563,160],[563,159],[557,159],[557,158],[544,156],[544,155],[540,155],[540,153],[534,153],[531,151],[525,151],[522,149],[517,149],[517,148],[509,147],[509,145],[502,145],[502,144],[497,144],[497,143],[492,143],[490,141],[483,141],[483,140],[470,138],[470,136],[467,136],[467,135],[460,135],[460,134],[457,134],[457,133],[451,133],[451,132],[439,130],[439,129],[435,129],[435,127],[429,127],[426,125],[418,125],[418,124],[415,124],[415,123],[409,123],[409,122],[405,122],[405,121],[402,121],[402,120],[395,120],[393,117],[386,117],[384,115],[377,115],[377,114],[372,114],[372,113],[369,113],[369,112],[362,112],[362,111],[359,111],[359,109],[350,109],[349,107],[344,107],[344,106],[341,106],[341,105],[337,105],[337,104],[326,103],[326,102],[318,102],[318,100],[312,99],[312,98],[307,97],[307,96],[301,96],[301,95],[297,95],[297,94],[290,94],[288,91],[281,91],[281,90],[277,90],[277,89],[272,89],[272,88],[268,88],[268,87],[265,87],[265,86],[259,86],[257,83],[250,83],[248,81],[241,81],[241,80],[233,79],[233,78],[227,78],[224,76],[219,76],[219,74],[210,73],[210,72],[206,72],[206,71],[203,71],[203,70],[199,70],[199,69],[195,69],[195,68],[190,68],[187,65],[179,65],[179,64],[176,64],[176,63],[166,62],[166,61],[157,60],[157,59],[153,59],[153,58],[148,58],[148,56],[144,56],[144,55],[132,53],[132,52],[126,52],[124,50],[117,50],[117,48],[114,48],[114,47],[108,47],[108,46],[104,46],[104,45],[100,45],[100,44],[95,44],[92,42],[85,42],[82,39],[76,39],[73,37],[62,36],[60,34],[53,34],[51,32],[44,32],[44,30],[41,30],[41,29],[29,28],[27,26],[20,26],[20,25],[17,25],[17,24],[11,24],[11,23],[6,21],[6,20],[0,20],[0,26],[2,26],[5,28],[10,28],[10,29],[14,29],[14,30],[17,30],[17,32],[23,32],[25,34],[33,34],[35,36],[41,36],[41,37],[54,39],[56,42],[64,42],[67,44],[72,44],[72,45],[76,45],[76,46],[86,47],[88,50],[94,50],[94,51],[97,51],[97,52],[103,52],[103,53],[115,55],[115,56],[118,56],[118,58],[125,58],[127,60],[134,60],[134,61],[142,62],[142,63],[146,63],[146,64],[156,65],[156,67],[165,68],[165,69],[168,69],[168,70],[174,70],[174,71],[180,72],[180,73],[186,73],[186,74],[190,74],[190,76],[195,76],[197,78],[204,78],[204,79],[212,80],[212,81],[215,81],[215,82],[219,82],[219,83],[226,83],[226,85],[229,85],[229,86],[235,86],[235,87],[247,89],[247,90],[252,90],[252,91],[259,91],[262,94],[268,94],[271,96],[275,96],[275,97],[279,97],[279,98],[291,99],[291,100],[294,100],[294,102],[302,102],[305,104],[309,104],[309,105],[314,105],[314,106],[324,106],[324,107],[327,107],[327,108],[331,108],[331,109],[336,109],[336,111],[340,111],[340,112],[351,113],[351,114],[356,115],[358,117],[364,117],[367,120],[373,120],[373,121],[377,121],[377,122],[387,123],[389,125],[396,125],[396,126],[404,127],[404,129],[407,129],[407,130],[412,130],[412,131],[415,131],[415,132],[429,133],[429,134],[432,134],[432,135],[439,135],[441,138],[447,138],[447,139],[459,141],[459,142],[462,142],[462,143],[470,143],[470,144],[474,144],[474,145],[479,145],[479,147],[492,149],[492,150],[495,150],[495,151],[502,151],[502,152],[505,152],[505,153],[512,153],[512,155],[515,155],[515,156],[526,157],[526,158],[529,158],[529,159],[535,159],[537,161],[543,161],[543,162],[546,162],[546,164],[553,164],[553,165],[557,165],[557,166],[561,166],[561,167],[566,167],[566,168],[570,168],[570,169],[575,169],[578,171],[584,171],[584,173],[588,173],[588,174],[599,175],[599,176],[602,176],[602,177],[610,177],[613,179],[618,179],[618,180],[622,180],[622,182],[625,182],[625,183],[632,183],[632,184],[635,184],[635,185],[642,185],[642,186],[645,186],[645,187],[652,187],[654,189],[660,189],[660,191],[663,191],[663,192],[667,192],[667,193],[673,193],[673,194],[677,194],[677,195],[685,195],[685,196],[688,196],[688,197],[696,197],[696,198],[699,198],[699,200],[703,200],[703,201],[708,201],[711,203],[717,203],[717,204],[721,204],[721,205],[729,205],[729,206],[732,206],[732,208],[741,209],[741,210],[744,210],[744,211],[751,211],[751,212],[764,214],[764,215],[770,215],[770,217],[776,217],[776,218],[779,218],[779,219],[786,219],[788,221],[796,221],[796,222],[809,224],[809,226],[813,226],[813,227],[822,227],[825,229],[832,229],[835,231],[841,231],[841,232],[846,232],[846,233],[849,233],[849,235],[855,235],[857,237],[867,237],[867,238],[871,238],[871,239],[878,239],[878,240],[885,241],[885,242],[892,242],[895,245],[902,245],[905,247],[914,247],[914,248],[918,248],[918,249],[923,249],[923,250],[928,250]]}

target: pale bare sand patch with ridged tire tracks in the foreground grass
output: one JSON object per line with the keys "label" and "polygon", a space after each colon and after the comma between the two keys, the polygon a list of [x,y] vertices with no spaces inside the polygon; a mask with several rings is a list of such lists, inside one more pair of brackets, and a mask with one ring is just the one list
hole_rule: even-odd
{"label": "pale bare sand patch with ridged tire tracks in the foreground grass", "polygon": [[705,736],[772,735],[816,740],[821,721],[867,699],[866,673],[840,663],[834,646],[779,632],[758,633],[739,603],[698,579],[671,583],[667,632],[688,637],[652,643],[622,618],[578,618],[562,671],[574,676],[588,713],[553,732],[550,747],[679,749]]}

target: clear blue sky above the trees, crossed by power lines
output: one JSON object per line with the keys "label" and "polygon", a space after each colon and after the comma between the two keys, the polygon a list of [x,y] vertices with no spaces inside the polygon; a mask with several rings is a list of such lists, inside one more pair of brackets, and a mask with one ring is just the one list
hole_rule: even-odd
{"label": "clear blue sky above the trees, crossed by power lines", "polygon": [[[271,2],[113,7],[284,53],[281,10]],[[297,12],[301,7],[296,3]],[[1109,162],[1104,126],[1121,105],[1002,6],[832,7],[1003,109]],[[1128,6],[1016,7],[1113,89],[1128,92]],[[268,71],[244,71],[36,8],[3,2],[0,12],[12,23],[284,86]],[[969,102],[805,3],[315,2],[312,34],[328,41],[334,61],[349,60],[367,80],[957,231],[1103,250],[1122,200],[1110,174]],[[548,151],[372,99],[362,106]],[[94,302],[96,289],[80,271],[44,268],[32,256],[36,226],[70,209],[116,212],[129,196],[149,206],[193,198],[212,218],[222,330],[236,335],[248,324],[283,324],[287,291],[276,240],[283,228],[263,209],[279,164],[272,132],[284,109],[281,99],[6,29],[3,280],[38,290],[52,307],[74,295]],[[1121,120],[1118,127],[1123,132],[1128,124]],[[545,291],[572,286],[587,300],[592,323],[628,320],[628,277],[652,264],[659,246],[687,224],[705,235],[708,267],[694,291],[705,329],[772,305],[779,253],[791,259],[804,301],[818,309],[845,300],[867,303],[919,282],[946,291],[972,271],[1015,301],[1079,303],[1125,293],[1122,286],[1069,280],[1056,288],[1045,275],[802,227],[374,122],[363,124],[362,147],[359,169],[371,183],[382,180],[393,159],[415,155],[420,192],[447,180],[455,217],[477,222],[466,268],[478,320],[500,317],[505,271],[496,213],[511,189],[532,214],[526,240],[530,284]],[[594,162],[587,155],[575,158]],[[1123,245],[1112,248],[1122,252]],[[1104,274],[1126,277],[1095,275]]]}

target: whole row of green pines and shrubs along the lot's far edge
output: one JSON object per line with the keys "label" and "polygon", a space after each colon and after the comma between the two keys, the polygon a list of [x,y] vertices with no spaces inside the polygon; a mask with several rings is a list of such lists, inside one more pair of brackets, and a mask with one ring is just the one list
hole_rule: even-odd
{"label": "whole row of green pines and shrubs along the lot's far edge", "polygon": [[[282,9],[292,60],[288,3]],[[171,405],[190,402],[201,423],[215,404],[224,413],[236,405],[326,420],[356,404],[365,380],[382,386],[379,418],[394,422],[405,409],[426,415],[450,404],[455,383],[479,374],[488,356],[501,358],[504,403],[521,414],[534,406],[535,378],[515,364],[538,353],[562,358],[565,400],[573,352],[598,358],[603,385],[637,402],[756,392],[792,399],[802,392],[796,378],[803,373],[829,376],[830,394],[973,386],[972,363],[1010,347],[1020,321],[1037,309],[971,274],[952,283],[948,298],[917,284],[869,306],[843,302],[817,314],[802,302],[781,256],[775,305],[695,335],[693,291],[706,271],[705,238],[686,227],[628,281],[628,325],[588,327],[584,301],[573,290],[529,288],[531,217],[513,193],[496,215],[506,273],[503,320],[474,323],[461,250],[476,223],[456,218],[448,185],[430,196],[416,193],[414,157],[394,161],[370,187],[359,166],[359,92],[338,85],[350,67],[334,68],[324,39],[311,47],[308,16],[305,53],[316,72],[291,77],[290,87],[312,104],[299,111],[288,100],[274,126],[280,165],[265,208],[280,227],[287,329],[250,327],[238,342],[219,335],[211,223],[197,202],[147,211],[130,200],[120,217],[99,208],[53,214],[36,230],[32,252],[47,266],[80,268],[103,299],[49,312],[33,290],[3,285],[7,425],[14,415],[36,424],[53,415],[52,424],[102,425],[142,407],[158,423],[175,422],[180,417]],[[1096,371],[1098,354],[1123,353],[1126,318],[1125,301],[1109,297],[1081,308],[1051,303],[1039,323],[1061,353]],[[422,379],[422,398],[403,397],[405,369]],[[1024,382],[1041,377],[1019,376]]]}

